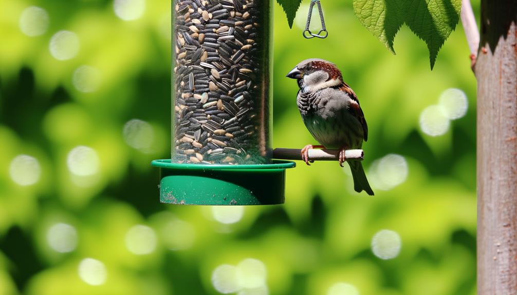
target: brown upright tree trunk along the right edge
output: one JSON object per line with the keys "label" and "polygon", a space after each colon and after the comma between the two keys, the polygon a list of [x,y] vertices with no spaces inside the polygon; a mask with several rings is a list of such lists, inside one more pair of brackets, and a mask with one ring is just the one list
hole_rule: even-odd
{"label": "brown upright tree trunk along the right edge", "polygon": [[[517,1],[481,1],[478,294],[517,294]],[[461,210],[461,208],[459,208]]]}

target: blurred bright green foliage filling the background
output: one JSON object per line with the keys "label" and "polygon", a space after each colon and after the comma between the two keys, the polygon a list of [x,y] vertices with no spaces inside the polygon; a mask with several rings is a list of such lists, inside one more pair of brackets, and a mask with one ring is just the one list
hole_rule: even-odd
{"label": "blurred bright green foliage filling the background", "polygon": [[[0,294],[218,294],[212,271],[248,257],[264,263],[270,294],[327,294],[340,282],[363,295],[476,293],[476,81],[461,26],[431,72],[407,27],[392,55],[351,0],[323,3],[325,40],[301,36],[308,1],[293,29],[275,4],[273,145],[314,143],[284,76],[302,59],[331,60],[368,120],[364,166],[376,194],[353,192],[336,162],[298,163],[285,205],[220,211],[158,201],[149,162],[170,154],[170,2],[133,2],[145,11],[123,11],[136,16],[125,21],[114,1],[0,1]],[[20,21],[30,6],[48,13],[42,35],[22,32],[38,33]],[[60,30],[79,40],[68,60],[49,50]],[[466,116],[429,136],[420,113],[448,88],[465,92]],[[93,152],[70,156],[78,146]],[[403,161],[376,161],[388,154]],[[393,259],[371,251],[383,229],[401,237]],[[87,257],[105,269],[84,274]]]}

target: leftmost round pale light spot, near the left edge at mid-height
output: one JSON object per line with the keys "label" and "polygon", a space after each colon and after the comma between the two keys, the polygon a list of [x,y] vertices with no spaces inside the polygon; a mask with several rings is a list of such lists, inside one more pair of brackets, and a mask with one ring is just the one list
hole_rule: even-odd
{"label": "leftmost round pale light spot, near the left edge at mid-height", "polygon": [[21,186],[29,186],[39,181],[41,167],[35,157],[18,155],[9,165],[9,175],[13,182]]}

